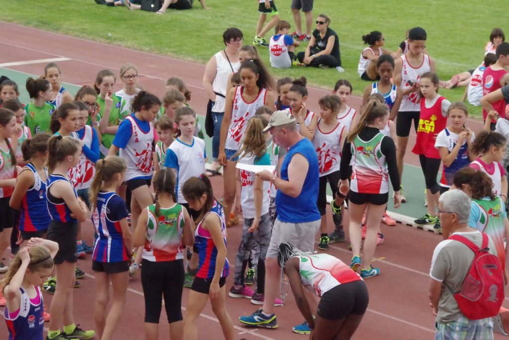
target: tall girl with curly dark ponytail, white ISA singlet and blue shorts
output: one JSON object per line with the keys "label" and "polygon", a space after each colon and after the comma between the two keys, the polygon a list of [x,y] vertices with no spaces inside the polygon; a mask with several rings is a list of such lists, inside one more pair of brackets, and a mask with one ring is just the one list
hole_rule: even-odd
{"label": "tall girl with curly dark ponytail, white ISA singlet and blue shorts", "polygon": [[236,163],[240,143],[247,127],[247,121],[254,116],[256,110],[266,104],[271,105],[274,97],[269,91],[274,88],[273,80],[267,69],[258,59],[244,61],[239,69],[243,86],[232,88],[228,92],[224,117],[221,123],[221,139],[219,144],[219,164],[224,166],[224,213],[227,223],[235,199]]}

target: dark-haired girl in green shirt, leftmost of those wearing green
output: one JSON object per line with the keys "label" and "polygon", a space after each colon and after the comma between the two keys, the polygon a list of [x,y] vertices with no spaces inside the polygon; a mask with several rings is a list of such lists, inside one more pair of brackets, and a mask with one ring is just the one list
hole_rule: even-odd
{"label": "dark-haired girl in green shirt, leftmost of those wearing green", "polygon": [[29,93],[32,102],[25,105],[25,125],[30,128],[32,136],[49,132],[51,114],[55,106],[48,103],[53,95],[51,85],[45,79],[26,79],[26,91]]}

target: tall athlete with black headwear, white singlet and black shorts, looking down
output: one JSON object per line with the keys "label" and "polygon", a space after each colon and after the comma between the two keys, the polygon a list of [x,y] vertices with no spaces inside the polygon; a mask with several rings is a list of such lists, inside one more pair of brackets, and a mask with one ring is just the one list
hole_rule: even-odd
{"label": "tall athlete with black headwear, white singlet and black shorts, looking down", "polygon": [[[405,151],[408,144],[408,136],[412,120],[414,129],[417,131],[419,124],[419,95],[418,82],[425,72],[435,72],[435,59],[425,54],[427,34],[420,27],[415,27],[408,33],[409,50],[394,62],[394,85],[402,90],[402,99],[398,119],[396,120],[396,135],[398,145],[398,170],[400,180],[403,179],[403,164]],[[405,193],[401,190],[403,202],[406,201]]]}

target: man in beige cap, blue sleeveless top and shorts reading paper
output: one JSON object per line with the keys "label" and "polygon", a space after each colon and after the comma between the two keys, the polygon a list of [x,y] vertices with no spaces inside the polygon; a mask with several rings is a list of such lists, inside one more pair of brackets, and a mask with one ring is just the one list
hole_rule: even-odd
{"label": "man in beige cap, blue sleeveless top and shorts reading paper", "polygon": [[290,242],[302,251],[314,250],[315,236],[320,228],[316,205],[319,171],[315,148],[299,133],[296,119],[290,112],[274,112],[264,132],[270,132],[277,145],[288,149],[281,166],[281,177],[266,170],[256,173],[277,187],[277,218],[265,260],[265,286],[270,289],[265,290],[263,308],[239,320],[250,326],[275,328],[277,320],[273,304],[278,293],[275,287],[280,286],[277,250],[283,242]]}

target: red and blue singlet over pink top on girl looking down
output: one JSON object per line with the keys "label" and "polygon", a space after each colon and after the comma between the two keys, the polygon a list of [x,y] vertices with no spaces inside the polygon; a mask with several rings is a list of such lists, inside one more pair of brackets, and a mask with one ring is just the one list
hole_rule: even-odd
{"label": "red and blue singlet over pink top on girl looking down", "polygon": [[[216,259],[217,259],[217,248],[214,245],[214,241],[210,236],[210,232],[205,230],[202,227],[203,221],[207,217],[208,214],[215,214],[219,217],[221,221],[221,232],[224,240],[224,245],[226,245],[226,224],[224,223],[224,212],[222,205],[220,205],[216,200],[214,200],[214,205],[210,212],[208,212],[202,221],[196,227],[196,231],[194,232],[194,246],[198,249],[199,266],[198,272],[196,273],[196,277],[202,279],[212,279],[214,278],[214,273],[216,270]],[[227,277],[230,271],[230,263],[228,262],[228,258],[224,259],[224,266],[221,272],[220,277]]]}

